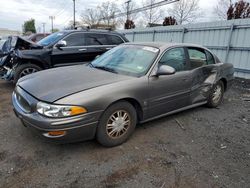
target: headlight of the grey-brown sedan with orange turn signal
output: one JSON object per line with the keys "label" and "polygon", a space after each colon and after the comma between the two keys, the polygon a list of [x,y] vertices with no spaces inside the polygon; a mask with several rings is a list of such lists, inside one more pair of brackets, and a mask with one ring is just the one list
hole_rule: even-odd
{"label": "headlight of the grey-brown sedan with orange turn signal", "polygon": [[52,105],[44,102],[37,103],[37,112],[47,117],[70,117],[84,114],[87,110],[80,106]]}

